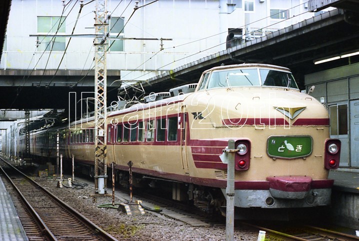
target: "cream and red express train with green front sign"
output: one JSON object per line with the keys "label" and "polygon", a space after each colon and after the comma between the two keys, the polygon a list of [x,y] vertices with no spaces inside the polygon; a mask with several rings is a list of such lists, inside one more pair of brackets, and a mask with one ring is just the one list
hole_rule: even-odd
{"label": "cream and red express train with green front sign", "polygon": [[[329,204],[328,172],[338,167],[340,142],[329,138],[327,110],[299,91],[289,69],[213,67],[197,85],[183,86],[192,92],[181,88],[168,98],[154,101],[165,94],[152,94],[153,101],[107,114],[107,163],[116,163],[117,180],[126,180],[132,161],[138,183],[154,187],[165,181],[174,199],[225,205],[227,166],[219,155],[234,139],[236,207]],[[59,130],[60,153],[92,166],[93,124],[80,129],[77,121],[76,127]],[[33,132],[32,153],[54,156],[56,131]]]}

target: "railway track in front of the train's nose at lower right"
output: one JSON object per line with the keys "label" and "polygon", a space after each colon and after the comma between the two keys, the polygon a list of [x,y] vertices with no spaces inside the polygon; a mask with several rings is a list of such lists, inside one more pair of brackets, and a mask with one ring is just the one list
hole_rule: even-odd
{"label": "railway track in front of the train's nose at lower right", "polygon": [[353,241],[359,240],[359,237],[347,233],[337,232],[311,225],[299,225],[288,227],[264,227],[255,224],[241,222],[243,225],[251,226],[266,231],[267,236],[283,238],[283,240],[300,240],[300,241]]}

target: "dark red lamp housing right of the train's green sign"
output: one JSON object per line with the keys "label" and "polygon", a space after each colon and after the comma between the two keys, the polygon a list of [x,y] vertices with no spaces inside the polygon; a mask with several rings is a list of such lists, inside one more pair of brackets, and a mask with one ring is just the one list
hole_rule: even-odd
{"label": "dark red lamp housing right of the train's green sign", "polygon": [[340,140],[326,139],[324,150],[324,167],[326,169],[336,169],[340,159]]}

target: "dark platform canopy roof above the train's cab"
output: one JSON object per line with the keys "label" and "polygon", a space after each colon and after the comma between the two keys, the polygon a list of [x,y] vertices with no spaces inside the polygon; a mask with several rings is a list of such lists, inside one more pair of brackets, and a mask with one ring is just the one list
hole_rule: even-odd
{"label": "dark platform canopy roof above the train's cab", "polygon": [[[359,4],[358,4],[359,7]],[[359,49],[359,25],[347,22],[347,13],[335,9],[303,20],[260,38],[166,71],[143,83],[147,92],[198,81],[203,70],[220,64],[263,62],[290,68],[299,87],[304,75],[357,62],[356,56],[315,65],[314,60]],[[358,21],[359,23],[359,21]]]}

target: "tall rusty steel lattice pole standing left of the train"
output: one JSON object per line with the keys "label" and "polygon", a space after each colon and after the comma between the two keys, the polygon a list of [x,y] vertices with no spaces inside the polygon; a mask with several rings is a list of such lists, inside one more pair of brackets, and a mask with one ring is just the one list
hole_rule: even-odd
{"label": "tall rusty steel lattice pole standing left of the train", "polygon": [[[95,192],[105,194],[107,180],[107,124],[106,124],[106,45],[107,45],[107,0],[96,0],[94,38],[94,84],[95,84],[95,126],[94,126],[94,185]],[[99,36],[98,34],[103,34]],[[100,184],[99,184],[100,183]]]}

